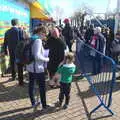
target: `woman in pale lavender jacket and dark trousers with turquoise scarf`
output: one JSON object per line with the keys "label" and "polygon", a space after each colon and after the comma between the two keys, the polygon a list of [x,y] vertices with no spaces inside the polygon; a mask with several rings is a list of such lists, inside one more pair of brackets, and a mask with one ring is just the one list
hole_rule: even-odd
{"label": "woman in pale lavender jacket and dark trousers with turquoise scarf", "polygon": [[29,96],[31,104],[33,107],[37,105],[34,98],[34,84],[35,80],[37,80],[43,109],[49,107],[46,104],[45,73],[44,73],[44,62],[48,62],[49,58],[44,57],[44,48],[42,45],[42,40],[45,38],[45,36],[46,29],[44,26],[36,28],[33,31],[32,40],[34,40],[34,43],[32,45],[32,54],[35,60],[27,66],[27,70],[29,72]]}

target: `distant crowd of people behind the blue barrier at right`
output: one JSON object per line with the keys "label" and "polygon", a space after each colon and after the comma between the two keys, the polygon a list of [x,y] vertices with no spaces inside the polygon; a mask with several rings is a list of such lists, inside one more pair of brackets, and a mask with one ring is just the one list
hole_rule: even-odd
{"label": "distant crowd of people behind the blue barrier at right", "polygon": [[[104,55],[112,57],[115,62],[119,63],[120,54],[120,32],[114,35],[114,31],[109,27],[94,27],[93,24],[85,27],[83,31],[79,27],[74,27],[77,36],[86,44],[92,46]],[[99,40],[97,40],[99,39]]]}

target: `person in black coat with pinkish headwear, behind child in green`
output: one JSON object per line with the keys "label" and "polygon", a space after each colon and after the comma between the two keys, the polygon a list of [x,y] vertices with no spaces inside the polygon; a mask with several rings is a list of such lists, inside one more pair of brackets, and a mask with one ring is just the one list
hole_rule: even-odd
{"label": "person in black coat with pinkish headwear, behind child in green", "polygon": [[50,79],[55,75],[59,64],[64,60],[64,50],[66,45],[60,38],[60,34],[57,28],[51,31],[51,35],[48,37],[47,46],[49,49],[49,62],[48,71]]}

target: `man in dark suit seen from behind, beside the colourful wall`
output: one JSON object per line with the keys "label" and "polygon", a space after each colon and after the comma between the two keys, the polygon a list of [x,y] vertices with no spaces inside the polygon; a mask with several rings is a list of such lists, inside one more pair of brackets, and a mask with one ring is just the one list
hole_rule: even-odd
{"label": "man in dark suit seen from behind, beside the colourful wall", "polygon": [[[4,50],[5,50],[5,54],[8,55],[7,53],[7,48],[8,48],[9,56],[10,56],[12,80],[15,80],[16,78],[15,49],[18,41],[23,39],[23,34],[22,34],[22,30],[18,28],[18,19],[12,19],[11,24],[12,24],[12,27],[5,33]],[[17,67],[18,67],[19,85],[23,85],[23,65],[17,64]]]}

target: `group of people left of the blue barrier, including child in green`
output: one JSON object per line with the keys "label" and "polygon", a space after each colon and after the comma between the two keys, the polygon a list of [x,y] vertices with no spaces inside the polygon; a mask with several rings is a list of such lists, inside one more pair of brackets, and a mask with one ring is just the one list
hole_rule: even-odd
{"label": "group of people left of the blue barrier, including child in green", "polygon": [[[46,75],[49,76],[50,87],[60,87],[59,101],[56,105],[60,107],[65,96],[63,108],[68,107],[72,75],[76,67],[74,54],[71,52],[72,29],[68,19],[64,23],[63,30],[53,25],[46,27],[41,24],[34,28],[32,33],[28,33],[19,27],[18,19],[12,19],[12,27],[5,33],[4,51],[10,57],[12,80],[16,80],[17,66],[19,85],[24,86],[23,71],[28,71],[32,107],[38,104],[34,95],[36,81],[42,109],[50,107],[46,101]],[[66,46],[69,48],[67,51]]]}

